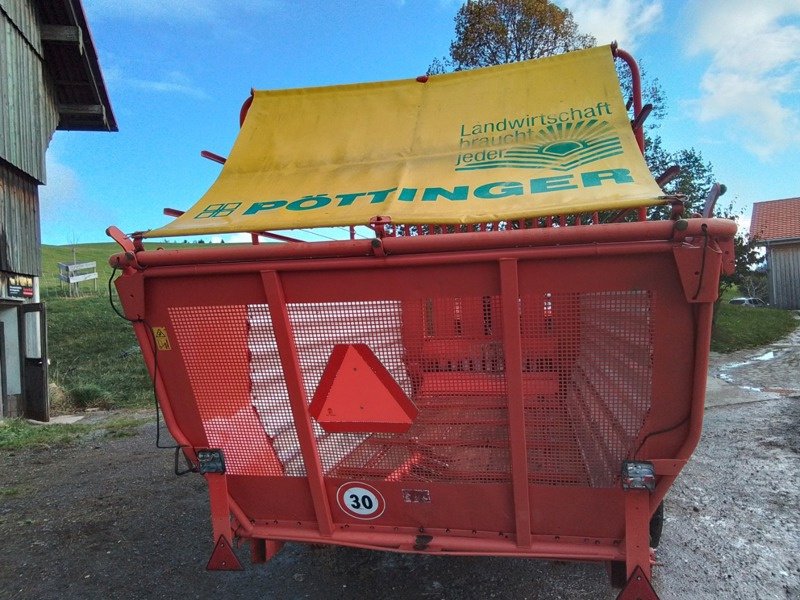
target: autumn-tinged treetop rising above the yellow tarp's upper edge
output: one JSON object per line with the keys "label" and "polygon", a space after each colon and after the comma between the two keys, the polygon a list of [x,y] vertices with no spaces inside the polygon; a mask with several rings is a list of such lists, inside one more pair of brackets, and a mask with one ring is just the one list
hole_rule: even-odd
{"label": "autumn-tinged treetop rising above the yellow tarp's upper edge", "polygon": [[456,15],[450,56],[429,73],[462,71],[594,46],[572,13],[548,0],[468,0]]}

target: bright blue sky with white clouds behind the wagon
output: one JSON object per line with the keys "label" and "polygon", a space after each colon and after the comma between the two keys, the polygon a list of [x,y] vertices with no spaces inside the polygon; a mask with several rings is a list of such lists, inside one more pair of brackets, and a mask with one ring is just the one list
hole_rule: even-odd
{"label": "bright blue sky with white clouds behind the wagon", "polygon": [[[754,201],[800,195],[800,0],[556,3],[659,79],[665,146],[699,150],[745,224]],[[120,130],[56,132],[41,190],[46,244],[103,241],[112,224],[157,227],[162,208],[191,206],[219,172],[200,150],[228,153],[251,87],[424,73],[447,54],[461,2],[83,4]]]}

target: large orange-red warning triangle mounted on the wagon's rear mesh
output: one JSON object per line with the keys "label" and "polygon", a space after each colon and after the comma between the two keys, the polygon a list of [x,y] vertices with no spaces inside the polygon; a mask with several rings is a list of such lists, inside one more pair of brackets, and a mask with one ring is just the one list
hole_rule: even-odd
{"label": "large orange-red warning triangle mounted on the wagon's rear mesh", "polygon": [[369,346],[337,344],[309,412],[328,432],[403,433],[418,411]]}

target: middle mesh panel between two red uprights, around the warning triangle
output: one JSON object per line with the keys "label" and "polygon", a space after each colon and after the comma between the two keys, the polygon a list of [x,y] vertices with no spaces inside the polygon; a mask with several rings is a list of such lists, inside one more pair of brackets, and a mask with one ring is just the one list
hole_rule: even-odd
{"label": "middle mesh panel between two red uprights, around the warning triangle", "polygon": [[309,398],[334,344],[367,344],[419,408],[404,434],[324,434],[330,476],[508,481],[508,417],[497,298],[288,307]]}

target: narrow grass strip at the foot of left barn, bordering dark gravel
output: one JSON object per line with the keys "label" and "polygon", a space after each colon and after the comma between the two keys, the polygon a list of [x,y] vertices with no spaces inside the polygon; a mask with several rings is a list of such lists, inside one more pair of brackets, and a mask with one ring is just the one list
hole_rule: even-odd
{"label": "narrow grass strip at the foot of left barn, bordering dark gravel", "polygon": [[92,424],[33,425],[23,419],[7,419],[0,423],[0,450],[69,446],[88,437],[128,437],[136,435],[145,422],[144,419],[122,417]]}

